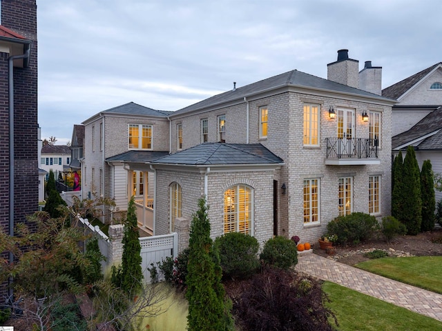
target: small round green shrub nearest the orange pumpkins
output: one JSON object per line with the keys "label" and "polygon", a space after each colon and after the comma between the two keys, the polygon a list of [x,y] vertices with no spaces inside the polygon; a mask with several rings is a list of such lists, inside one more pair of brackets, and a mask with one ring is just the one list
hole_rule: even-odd
{"label": "small round green shrub nearest the orange pumpkins", "polygon": [[267,265],[287,270],[298,263],[298,250],[293,240],[277,236],[266,241],[260,259]]}

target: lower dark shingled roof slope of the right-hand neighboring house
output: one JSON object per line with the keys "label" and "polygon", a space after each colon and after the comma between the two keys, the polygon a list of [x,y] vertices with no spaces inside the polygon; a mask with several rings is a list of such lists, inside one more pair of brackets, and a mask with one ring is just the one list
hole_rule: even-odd
{"label": "lower dark shingled roof slope of the right-hand neighboring house", "polygon": [[[397,148],[404,143],[409,143],[415,139],[419,139],[427,134],[442,129],[442,107],[436,108],[430,114],[427,114],[421,121],[416,123],[410,130],[397,134],[392,137],[392,148]],[[416,145],[414,145],[416,146]],[[442,132],[436,133],[419,143],[419,149],[441,149],[442,148]]]}

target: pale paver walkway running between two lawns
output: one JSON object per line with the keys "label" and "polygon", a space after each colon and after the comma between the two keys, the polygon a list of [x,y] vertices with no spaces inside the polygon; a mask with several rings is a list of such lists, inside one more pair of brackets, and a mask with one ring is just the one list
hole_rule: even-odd
{"label": "pale paver walkway running between two lawns", "polygon": [[295,269],[442,321],[442,294],[393,281],[317,254],[298,257]]}

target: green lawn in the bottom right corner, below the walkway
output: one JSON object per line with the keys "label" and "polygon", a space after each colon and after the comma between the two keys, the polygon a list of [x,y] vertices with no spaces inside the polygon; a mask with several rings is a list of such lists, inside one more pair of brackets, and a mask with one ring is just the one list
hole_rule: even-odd
{"label": "green lawn in the bottom right corner, below the walkway", "polygon": [[[402,258],[401,258],[402,259]],[[326,281],[326,303],[338,319],[336,330],[442,330],[442,322]],[[334,325],[334,324],[332,324]]]}

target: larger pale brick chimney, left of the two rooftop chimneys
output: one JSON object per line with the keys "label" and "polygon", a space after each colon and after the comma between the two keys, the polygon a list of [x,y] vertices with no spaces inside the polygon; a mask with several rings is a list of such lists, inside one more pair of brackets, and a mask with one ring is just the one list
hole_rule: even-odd
{"label": "larger pale brick chimney, left of the two rooftop chimneys", "polygon": [[349,59],[348,50],[338,50],[338,60],[327,64],[327,79],[359,88],[359,61]]}

